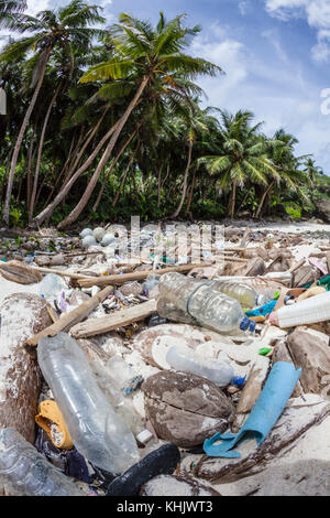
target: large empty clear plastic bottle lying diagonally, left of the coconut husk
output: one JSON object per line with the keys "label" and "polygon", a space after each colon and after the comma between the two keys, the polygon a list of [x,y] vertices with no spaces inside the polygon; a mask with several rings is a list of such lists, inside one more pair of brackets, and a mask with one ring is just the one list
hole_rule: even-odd
{"label": "large empty clear plastic bottle lying diagonally, left of the coconut husk", "polygon": [[134,436],[107,401],[78,344],[66,333],[42,338],[37,359],[79,453],[113,474],[135,463]]}

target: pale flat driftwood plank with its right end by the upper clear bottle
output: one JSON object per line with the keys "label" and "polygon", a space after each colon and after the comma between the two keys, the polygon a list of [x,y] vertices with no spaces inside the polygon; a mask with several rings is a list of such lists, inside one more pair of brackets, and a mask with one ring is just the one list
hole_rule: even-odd
{"label": "pale flat driftwood plank with its right end by the upper clear bottle", "polygon": [[118,327],[123,327],[139,320],[146,319],[146,316],[155,313],[156,307],[157,302],[155,300],[151,300],[133,307],[118,311],[108,316],[89,319],[86,322],[81,322],[80,324],[72,327],[70,335],[74,336],[74,338],[87,338],[89,336],[108,333],[109,331],[117,330]]}

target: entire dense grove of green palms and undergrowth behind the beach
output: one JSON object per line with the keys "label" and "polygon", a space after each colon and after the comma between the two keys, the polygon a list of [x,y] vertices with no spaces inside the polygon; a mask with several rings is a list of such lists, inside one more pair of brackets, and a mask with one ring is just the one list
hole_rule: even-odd
{"label": "entire dense grove of green palms and undergrowth behind the beach", "polygon": [[322,171],[294,136],[206,107],[199,78],[226,71],[191,55],[186,15],[109,26],[84,0],[35,17],[0,0],[0,29],[3,225],[312,213]]}

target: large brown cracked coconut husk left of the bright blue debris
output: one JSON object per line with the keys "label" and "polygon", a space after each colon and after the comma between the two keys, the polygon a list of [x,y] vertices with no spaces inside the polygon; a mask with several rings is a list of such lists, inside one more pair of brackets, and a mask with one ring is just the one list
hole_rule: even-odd
{"label": "large brown cracked coconut husk left of the bright blue debris", "polygon": [[233,404],[201,376],[166,370],[147,378],[142,390],[156,434],[178,446],[197,446],[232,422]]}

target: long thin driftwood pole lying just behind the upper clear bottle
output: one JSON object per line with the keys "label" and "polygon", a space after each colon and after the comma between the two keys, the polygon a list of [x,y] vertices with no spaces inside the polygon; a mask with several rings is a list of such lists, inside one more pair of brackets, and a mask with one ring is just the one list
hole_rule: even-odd
{"label": "long thin driftwood pole lying just behind the upper clear bottle", "polygon": [[172,271],[184,273],[186,271],[193,270],[193,268],[197,268],[200,266],[209,266],[209,265],[180,265],[177,267],[163,268],[162,270],[134,271],[132,273],[105,276],[98,279],[84,278],[78,281],[78,284],[81,288],[90,288],[92,285],[124,284],[125,282],[129,282],[129,281],[142,281],[146,279],[150,273],[157,273],[160,276],[172,272]]}

